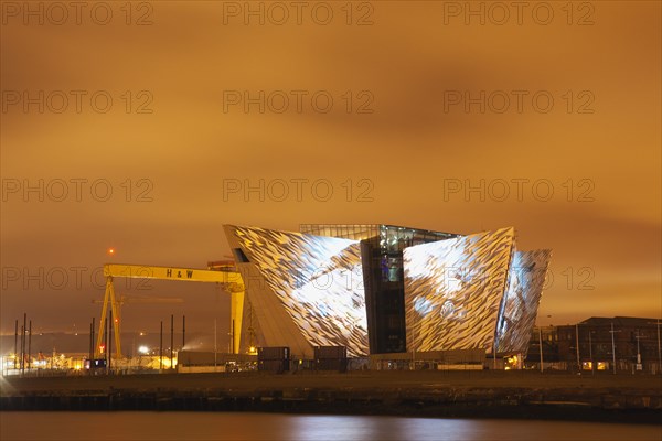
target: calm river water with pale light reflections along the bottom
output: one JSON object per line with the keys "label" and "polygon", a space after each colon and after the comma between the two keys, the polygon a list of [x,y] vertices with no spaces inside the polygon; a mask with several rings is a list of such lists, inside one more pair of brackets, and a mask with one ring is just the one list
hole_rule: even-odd
{"label": "calm river water with pale light reflections along the bottom", "polygon": [[662,426],[250,412],[0,412],[0,440],[660,441]]}

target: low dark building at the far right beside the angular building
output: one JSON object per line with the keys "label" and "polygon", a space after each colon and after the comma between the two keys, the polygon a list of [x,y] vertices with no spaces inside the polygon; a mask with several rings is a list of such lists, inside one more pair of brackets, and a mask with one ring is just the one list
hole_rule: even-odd
{"label": "low dark building at the far right beside the angular building", "polygon": [[[660,321],[645,318],[590,318],[577,324],[535,327],[526,365],[545,369],[659,373]],[[578,345],[577,345],[578,343]],[[616,364],[615,364],[616,361]]]}

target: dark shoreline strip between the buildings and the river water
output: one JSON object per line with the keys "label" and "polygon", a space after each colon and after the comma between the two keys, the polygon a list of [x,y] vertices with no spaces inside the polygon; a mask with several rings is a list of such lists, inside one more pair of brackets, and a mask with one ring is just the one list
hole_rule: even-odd
{"label": "dark shoreline strip between the buildings and the river water", "polygon": [[1,411],[248,411],[618,423],[662,420],[660,376],[233,373],[3,377]]}

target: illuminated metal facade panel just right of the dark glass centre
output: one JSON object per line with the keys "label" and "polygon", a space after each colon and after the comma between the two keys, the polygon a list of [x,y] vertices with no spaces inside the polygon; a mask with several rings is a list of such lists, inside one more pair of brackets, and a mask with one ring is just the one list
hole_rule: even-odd
{"label": "illuminated metal facade panel just right of the dark glass centre", "polygon": [[407,351],[492,351],[514,229],[405,248]]}

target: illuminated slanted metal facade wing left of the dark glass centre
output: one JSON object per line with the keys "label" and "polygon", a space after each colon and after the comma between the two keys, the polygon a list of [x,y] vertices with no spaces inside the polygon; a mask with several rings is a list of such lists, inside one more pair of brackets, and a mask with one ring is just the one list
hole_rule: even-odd
{"label": "illuminated slanted metal facade wing left of the dark glass centre", "polygon": [[[293,323],[310,347],[346,346],[350,356],[367,354],[357,240],[241,226],[226,226],[226,232],[268,287],[253,289],[249,277],[244,278],[267,338],[277,333],[279,344],[292,346],[287,340],[293,336],[286,334]],[[274,320],[273,310],[284,310],[289,323]]]}

